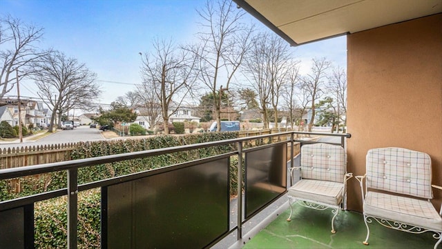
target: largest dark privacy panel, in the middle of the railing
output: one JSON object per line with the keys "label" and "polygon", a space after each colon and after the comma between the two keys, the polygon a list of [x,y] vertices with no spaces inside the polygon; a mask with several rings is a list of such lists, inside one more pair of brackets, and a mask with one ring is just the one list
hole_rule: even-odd
{"label": "largest dark privacy panel, in the middle of the railing", "polygon": [[229,231],[228,158],[119,183],[104,195],[107,248],[204,248]]}

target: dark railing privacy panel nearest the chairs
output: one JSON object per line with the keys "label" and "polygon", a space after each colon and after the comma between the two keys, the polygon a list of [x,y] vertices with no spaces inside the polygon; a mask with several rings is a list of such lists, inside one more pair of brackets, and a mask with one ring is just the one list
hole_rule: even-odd
{"label": "dark railing privacy panel nearest the chairs", "polygon": [[287,188],[287,144],[246,152],[245,216],[251,217]]}

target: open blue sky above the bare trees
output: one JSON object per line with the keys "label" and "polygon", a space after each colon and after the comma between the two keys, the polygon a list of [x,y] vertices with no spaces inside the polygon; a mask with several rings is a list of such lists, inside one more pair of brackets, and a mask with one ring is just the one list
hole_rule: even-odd
{"label": "open blue sky above the bare trees", "polygon": [[[10,14],[44,28],[44,41],[39,46],[52,47],[85,63],[102,83],[99,103],[111,103],[134,90],[133,84],[141,83],[138,53],[148,52],[153,39],[194,41],[200,21],[196,9],[202,8],[205,1],[0,0],[0,16]],[[247,19],[267,29],[248,13]],[[296,59],[302,61],[301,72],[308,72],[314,57],[327,57],[335,66],[345,67],[347,63],[345,37],[292,49]],[[37,96],[37,88],[30,81],[23,82],[20,91],[23,96]]]}

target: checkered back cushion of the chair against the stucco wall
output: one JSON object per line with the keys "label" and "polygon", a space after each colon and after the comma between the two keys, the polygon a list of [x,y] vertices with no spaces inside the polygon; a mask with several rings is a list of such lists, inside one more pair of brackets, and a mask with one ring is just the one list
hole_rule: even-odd
{"label": "checkered back cushion of the chair against the stucco wall", "polygon": [[432,199],[430,156],[404,148],[367,152],[367,188]]}

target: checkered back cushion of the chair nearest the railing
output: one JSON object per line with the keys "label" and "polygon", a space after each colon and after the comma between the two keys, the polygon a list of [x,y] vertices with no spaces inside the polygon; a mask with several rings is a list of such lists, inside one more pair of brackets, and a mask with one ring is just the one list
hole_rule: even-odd
{"label": "checkered back cushion of the chair nearest the railing", "polygon": [[343,182],[346,163],[341,146],[314,143],[301,147],[302,178]]}

